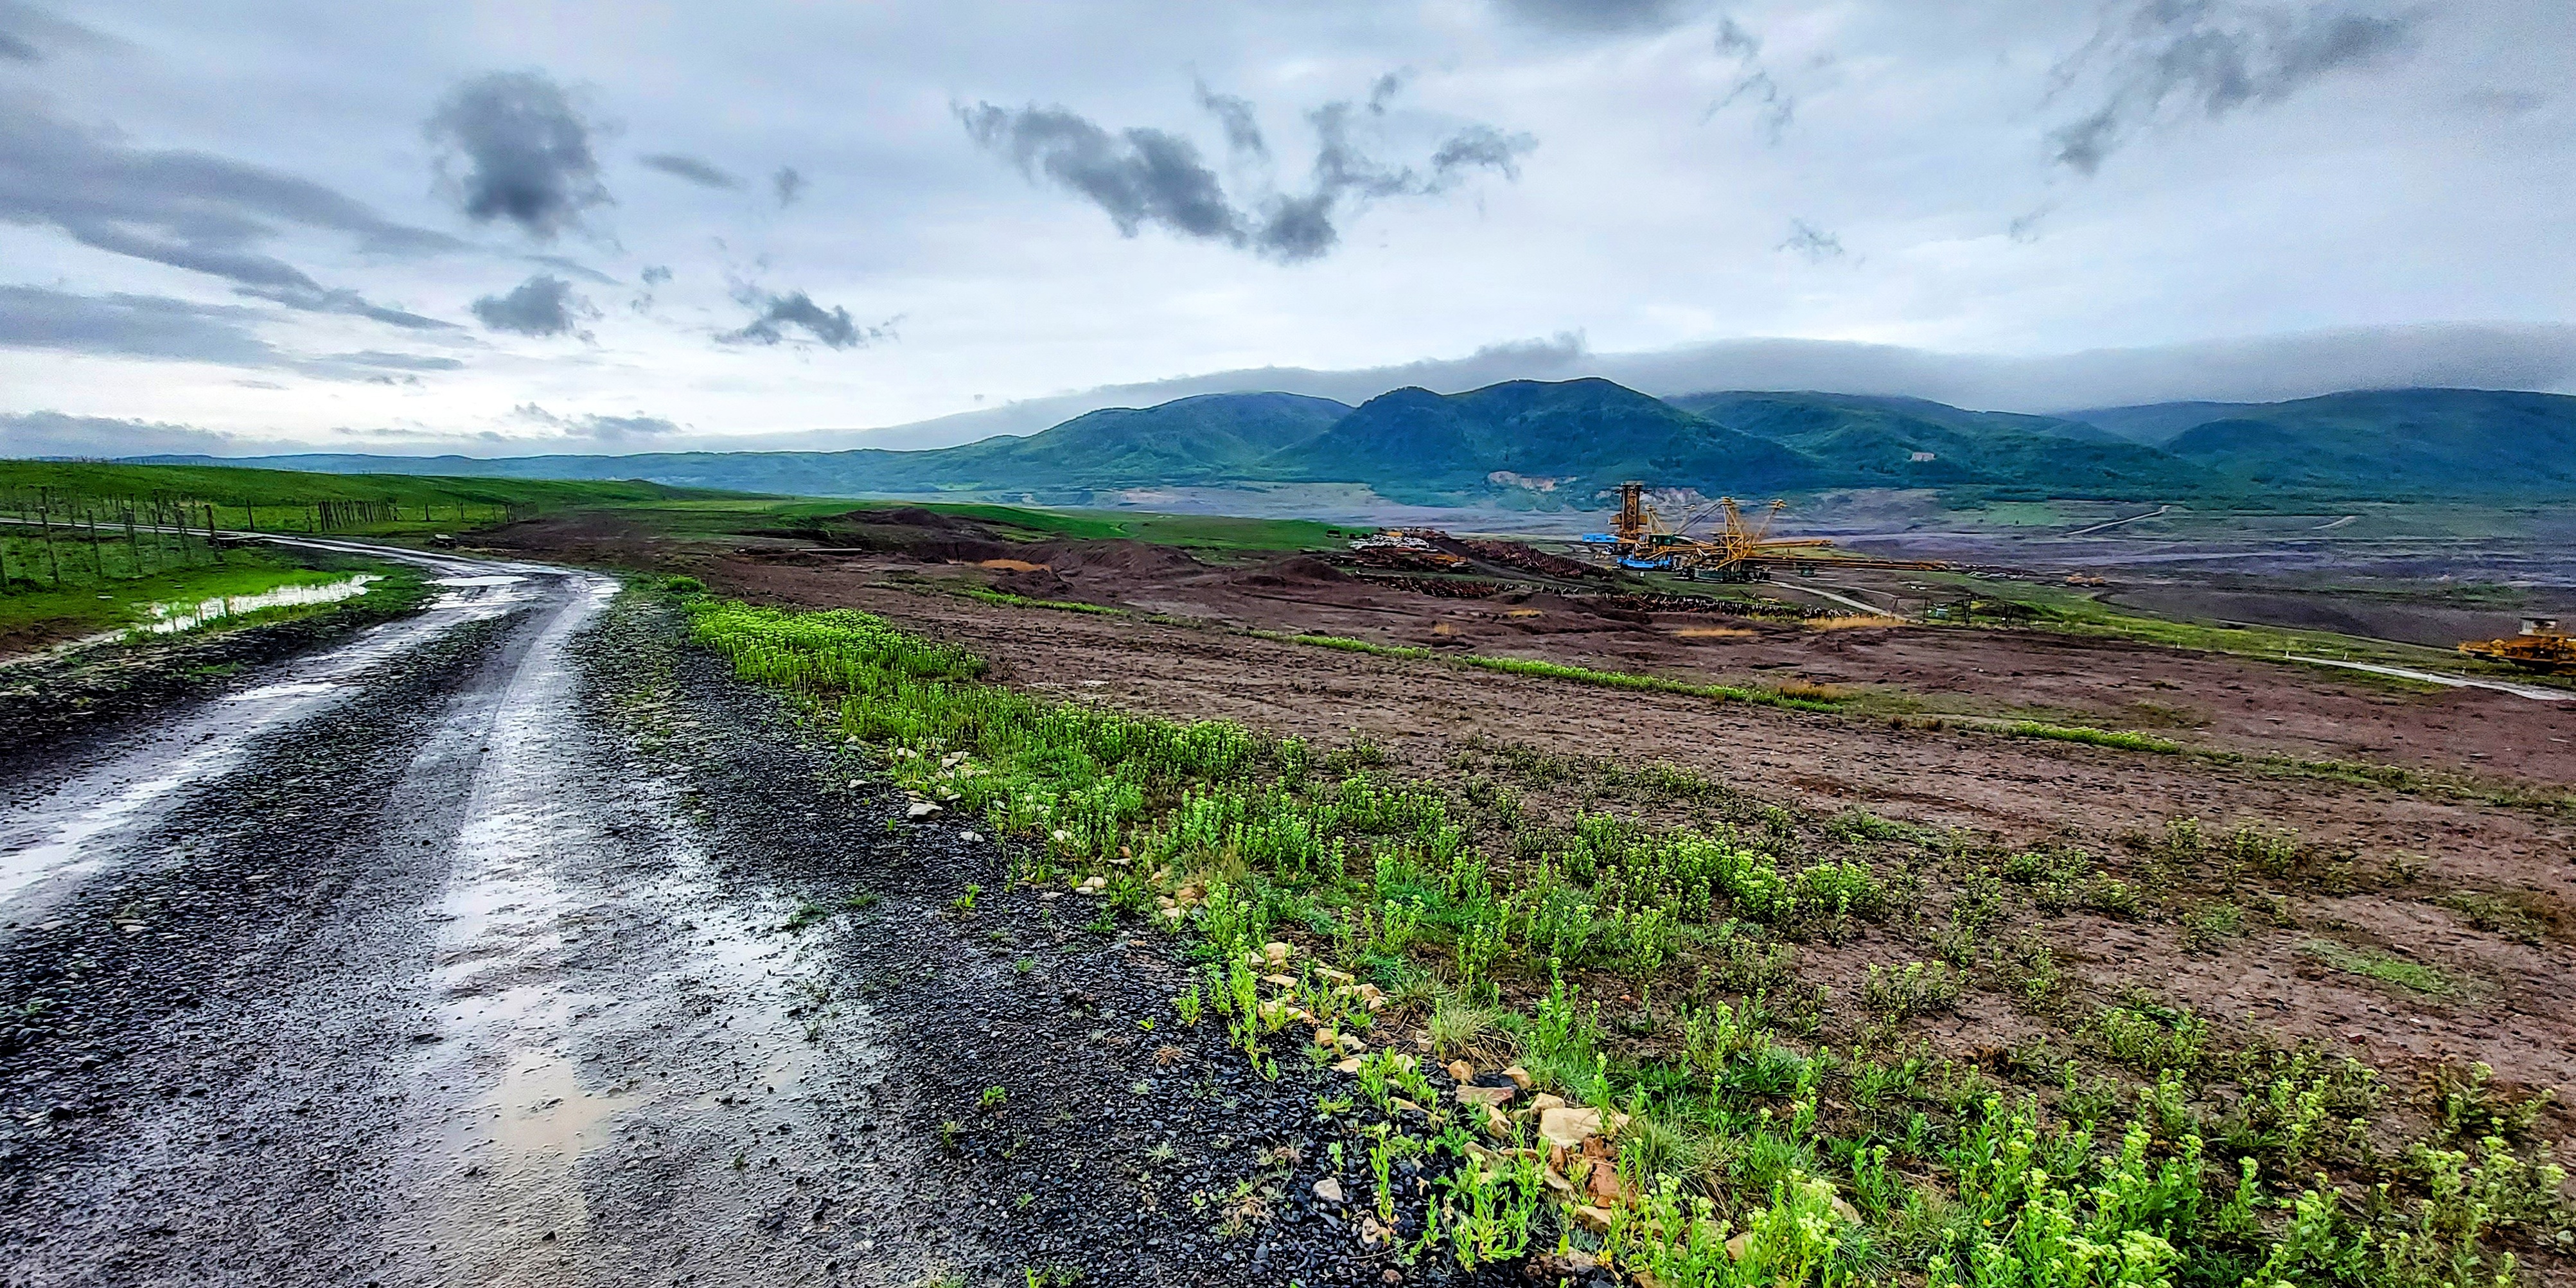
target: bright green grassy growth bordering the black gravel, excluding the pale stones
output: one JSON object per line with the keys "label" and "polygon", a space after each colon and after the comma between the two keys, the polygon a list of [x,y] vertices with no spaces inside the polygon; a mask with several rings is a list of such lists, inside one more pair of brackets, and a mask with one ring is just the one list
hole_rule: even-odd
{"label": "bright green grassy growth bordering the black gravel, excluding the pale stones", "polygon": [[[1690,827],[1507,822],[1510,845],[1486,850],[1473,793],[1461,806],[1301,739],[989,685],[971,654],[868,613],[683,605],[696,641],[873,747],[899,788],[1015,837],[1015,881],[1105,881],[1097,927],[1126,912],[1177,930],[1200,966],[1175,1015],[1221,1025],[1257,1077],[1309,1048],[1291,1005],[1363,1033],[1370,1051],[1332,1113],[1376,1175],[1355,1198],[1388,1221],[1401,1203],[1417,1260],[1476,1270],[1548,1247],[1556,1180],[1528,1126],[1476,1141],[1484,1126],[1445,1105],[1430,1061],[1376,1030],[1396,1012],[1350,997],[1352,974],[1386,984],[1404,1023],[1476,1048],[1473,1064],[1512,1059],[1540,1090],[1631,1115],[1597,1167],[1636,1198],[1582,1247],[1633,1280],[1844,1288],[1924,1267],[1924,1288],[2458,1288],[2509,1278],[2496,1229],[2561,1221],[2563,1175],[2545,1159],[2352,1149],[2375,1074],[2329,1051],[2226,1048],[2208,1020],[2154,1002],[2081,1038],[2151,1084],[2102,1064],[2079,1084],[2087,1069],[2045,1043],[2004,1061],[2030,1059],[2048,1100],[1929,1046],[1798,1046],[1816,1028],[1783,1025],[1801,989],[1785,940],[1842,943],[1850,922],[1904,938],[1911,894],[1865,855],[1811,850],[1785,809]],[[1291,940],[1285,961],[1257,951],[1273,938]],[[1862,1005],[1896,1025],[1981,976],[1924,963],[1878,976]],[[1391,1185],[1396,1162],[1419,1185]],[[1571,1154],[1566,1167],[1582,1175]],[[2339,1185],[2380,1198],[2347,1203]]]}

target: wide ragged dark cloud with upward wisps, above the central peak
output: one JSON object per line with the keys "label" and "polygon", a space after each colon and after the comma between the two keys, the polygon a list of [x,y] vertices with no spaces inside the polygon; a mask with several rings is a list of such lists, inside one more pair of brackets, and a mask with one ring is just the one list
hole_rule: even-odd
{"label": "wide ragged dark cloud with upward wisps, above the central peak", "polygon": [[[1236,201],[1226,183],[1200,157],[1198,144],[1159,129],[1108,129],[1066,108],[999,108],[976,103],[958,108],[979,144],[1020,165],[1030,180],[1041,175],[1082,193],[1108,211],[1121,234],[1136,237],[1162,227],[1182,237],[1224,242],[1262,258],[1298,263],[1327,255],[1340,242],[1337,219],[1345,204],[1396,196],[1440,196],[1476,170],[1520,178],[1520,157],[1538,147],[1528,134],[1504,134],[1471,124],[1443,139],[1422,165],[1388,165],[1358,137],[1365,118],[1386,113],[1404,88],[1401,72],[1370,85],[1365,100],[1332,100],[1306,113],[1316,134],[1316,157],[1303,193],[1283,193],[1273,178],[1260,180],[1260,196]],[[1242,98],[1198,88],[1198,103],[1226,129],[1236,160],[1267,160],[1270,147],[1252,124]]]}

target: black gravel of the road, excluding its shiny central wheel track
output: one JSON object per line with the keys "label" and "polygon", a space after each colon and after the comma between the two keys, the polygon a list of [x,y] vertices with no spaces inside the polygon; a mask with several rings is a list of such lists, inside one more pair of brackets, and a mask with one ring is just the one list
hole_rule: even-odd
{"label": "black gravel of the road, excluding its shiny central wheel track", "polygon": [[[971,819],[904,822],[853,750],[654,605],[572,647],[562,791],[605,840],[559,858],[590,891],[564,989],[608,999],[562,1051],[585,1095],[652,1092],[582,1149],[580,1249],[425,1224],[489,1180],[422,1144],[507,1056],[448,1025],[435,920],[489,750],[471,729],[538,621],[399,657],[41,922],[0,925],[0,1283],[456,1283],[440,1257],[513,1239],[618,1283],[1528,1283],[1363,1247],[1365,1139],[1316,1110],[1347,1079],[1280,1051],[1267,1082],[1221,1020],[1180,1025],[1177,938],[1012,889]],[[711,881],[680,881],[680,853]],[[796,948],[796,1087],[762,1087],[775,1051],[742,1038],[781,989],[703,971],[672,935],[693,912]],[[1345,1203],[1314,1195],[1327,1175]],[[1412,1188],[1399,1231],[1419,1229]]]}

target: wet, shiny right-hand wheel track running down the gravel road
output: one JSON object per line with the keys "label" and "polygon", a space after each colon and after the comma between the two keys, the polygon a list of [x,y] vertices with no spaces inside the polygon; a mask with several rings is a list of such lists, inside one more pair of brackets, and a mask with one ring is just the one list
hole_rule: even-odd
{"label": "wet, shiny right-hand wheel track running down the gravel road", "polygon": [[[639,1244],[744,1270],[786,1252],[750,1213],[824,1167],[809,1082],[824,1046],[788,1015],[814,1005],[775,935],[788,909],[729,909],[739,891],[667,783],[585,773],[564,644],[616,587],[587,590],[474,734],[435,907],[440,1043],[415,1077],[428,1105],[456,1108],[422,1123],[430,1170],[389,1255],[446,1283],[631,1275]],[[659,845],[647,873],[616,863],[639,837]],[[855,1046],[840,1033],[835,1054]]]}

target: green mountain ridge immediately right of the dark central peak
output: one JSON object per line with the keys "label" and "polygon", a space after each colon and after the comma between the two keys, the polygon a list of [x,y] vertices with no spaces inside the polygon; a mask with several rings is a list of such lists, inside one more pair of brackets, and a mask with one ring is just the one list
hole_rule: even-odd
{"label": "green mountain ridge immediately right of the dark central peak", "polygon": [[1672,404],[1821,461],[1839,487],[2035,487],[2117,500],[2221,487],[2200,466],[2058,417],[1862,394],[1690,394]]}

